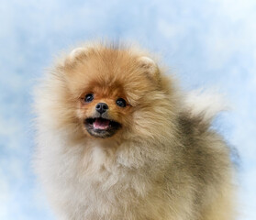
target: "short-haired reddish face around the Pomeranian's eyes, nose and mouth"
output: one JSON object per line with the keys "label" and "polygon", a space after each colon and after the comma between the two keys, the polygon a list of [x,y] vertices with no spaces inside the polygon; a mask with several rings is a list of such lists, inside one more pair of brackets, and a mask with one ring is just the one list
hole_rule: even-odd
{"label": "short-haired reddish face around the Pomeranian's eyes, nose and mouth", "polygon": [[79,115],[83,126],[93,137],[112,137],[128,126],[132,106],[121,88],[93,86],[80,101]]}

